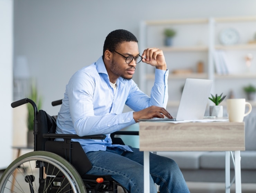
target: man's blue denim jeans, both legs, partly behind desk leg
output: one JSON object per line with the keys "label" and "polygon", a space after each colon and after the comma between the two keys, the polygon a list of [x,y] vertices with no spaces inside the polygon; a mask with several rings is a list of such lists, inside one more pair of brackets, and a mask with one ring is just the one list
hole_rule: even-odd
{"label": "man's blue denim jeans, both legs, partly behind desk leg", "polygon": [[[134,152],[122,152],[119,149],[88,152],[92,163],[87,174],[111,175],[130,193],[144,192],[143,152],[132,148]],[[156,193],[154,183],[160,186],[161,193],[189,193],[179,166],[172,159],[150,153],[150,193]]]}

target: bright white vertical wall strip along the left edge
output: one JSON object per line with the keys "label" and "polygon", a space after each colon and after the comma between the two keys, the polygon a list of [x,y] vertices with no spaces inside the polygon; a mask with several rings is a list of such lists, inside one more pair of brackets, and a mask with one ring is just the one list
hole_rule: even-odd
{"label": "bright white vertical wall strip along the left edge", "polygon": [[0,170],[11,163],[13,1],[0,0]]}

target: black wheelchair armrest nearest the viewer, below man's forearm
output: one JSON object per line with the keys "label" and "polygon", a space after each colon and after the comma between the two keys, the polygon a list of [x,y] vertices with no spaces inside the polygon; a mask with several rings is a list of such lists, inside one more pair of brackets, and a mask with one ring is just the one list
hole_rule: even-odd
{"label": "black wheelchair armrest nearest the viewer, below man's forearm", "polygon": [[106,135],[86,135],[86,136],[79,136],[75,134],[51,134],[51,133],[45,133],[43,134],[44,138],[49,139],[105,139]]}

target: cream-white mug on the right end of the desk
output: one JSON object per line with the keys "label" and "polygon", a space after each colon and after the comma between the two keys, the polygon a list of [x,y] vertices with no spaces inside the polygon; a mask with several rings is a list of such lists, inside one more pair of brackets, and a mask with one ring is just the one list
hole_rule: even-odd
{"label": "cream-white mug on the right end of the desk", "polygon": [[[245,113],[245,106],[249,109]],[[243,122],[244,117],[252,111],[252,105],[245,99],[227,99],[227,113],[229,122]]]}

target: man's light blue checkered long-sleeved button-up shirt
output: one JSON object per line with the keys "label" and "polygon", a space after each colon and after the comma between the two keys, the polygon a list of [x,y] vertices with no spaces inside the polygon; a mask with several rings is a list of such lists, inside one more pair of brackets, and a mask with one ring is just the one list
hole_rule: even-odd
{"label": "man's light blue checkered long-sleeved button-up shirt", "polygon": [[168,72],[168,70],[155,70],[155,83],[150,98],[139,90],[133,80],[123,78],[117,79],[117,90],[114,94],[104,62],[100,57],[97,62],[77,71],[66,85],[58,113],[56,133],[79,136],[107,135],[104,140],[72,140],[80,142],[85,152],[106,151],[107,146],[117,146],[122,150],[132,151],[127,145],[112,145],[110,133],[135,123],[132,111],[122,113],[125,104],[134,111],[152,105],[166,108]]}

